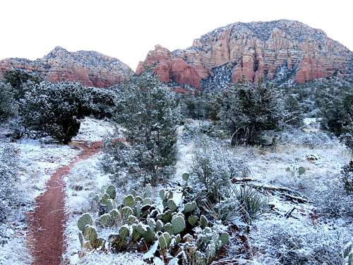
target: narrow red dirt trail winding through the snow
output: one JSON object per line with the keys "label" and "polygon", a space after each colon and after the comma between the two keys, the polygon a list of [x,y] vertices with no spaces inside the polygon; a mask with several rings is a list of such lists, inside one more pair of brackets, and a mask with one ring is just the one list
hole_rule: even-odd
{"label": "narrow red dirt trail winding through the snow", "polygon": [[28,213],[28,246],[32,252],[32,265],[59,265],[64,252],[64,175],[78,161],[98,153],[102,142],[85,146],[77,142],[81,153],[68,165],[60,167],[47,182],[47,190],[35,199],[35,211]]}

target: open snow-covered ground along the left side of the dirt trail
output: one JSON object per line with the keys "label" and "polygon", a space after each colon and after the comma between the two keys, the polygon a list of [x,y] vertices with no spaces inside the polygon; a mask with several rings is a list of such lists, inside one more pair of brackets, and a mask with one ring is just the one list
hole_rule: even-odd
{"label": "open snow-covered ground along the left side of the dirt trail", "polygon": [[45,182],[50,175],[67,165],[79,151],[69,146],[56,143],[41,143],[39,140],[24,139],[12,143],[18,148],[20,165],[18,189],[24,206],[16,209],[8,216],[10,227],[7,233],[10,240],[0,245],[0,264],[30,264],[32,257],[26,248],[27,224],[25,213],[31,211],[35,197],[44,192]]}

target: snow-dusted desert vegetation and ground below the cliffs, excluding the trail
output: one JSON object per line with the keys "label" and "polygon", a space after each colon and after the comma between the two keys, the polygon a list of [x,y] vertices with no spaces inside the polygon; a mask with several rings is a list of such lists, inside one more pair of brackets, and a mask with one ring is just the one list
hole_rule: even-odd
{"label": "snow-dusted desert vegetation and ground below the cliffs, excluding the trail", "polygon": [[352,261],[352,90],[178,95],[149,72],[88,98],[73,83],[20,87],[0,87],[0,262],[37,259],[28,215],[61,168],[63,264]]}

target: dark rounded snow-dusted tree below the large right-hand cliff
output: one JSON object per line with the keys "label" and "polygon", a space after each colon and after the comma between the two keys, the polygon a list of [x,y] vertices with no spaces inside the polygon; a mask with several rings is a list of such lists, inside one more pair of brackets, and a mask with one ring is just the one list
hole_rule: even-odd
{"label": "dark rounded snow-dusted tree below the large right-hand cliff", "polygon": [[237,83],[222,91],[217,119],[233,144],[261,144],[261,131],[279,129],[284,113],[280,96],[270,83]]}

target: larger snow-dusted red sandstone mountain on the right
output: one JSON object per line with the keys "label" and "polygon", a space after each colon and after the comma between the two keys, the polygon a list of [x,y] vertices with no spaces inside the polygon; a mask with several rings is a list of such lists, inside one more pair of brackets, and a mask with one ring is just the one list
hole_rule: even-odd
{"label": "larger snow-dusted red sandstone mountain on the right", "polygon": [[214,84],[220,69],[227,69],[228,76],[224,76],[231,82],[243,76],[257,82],[260,78],[276,78],[279,69],[285,68],[290,73],[288,78],[304,83],[347,75],[351,56],[349,49],[322,30],[297,21],[234,23],[201,36],[187,49],[169,52],[157,45],[140,62],[136,73],[143,71],[144,65],[156,66],[161,81],[200,88]]}

